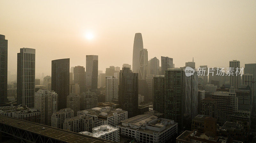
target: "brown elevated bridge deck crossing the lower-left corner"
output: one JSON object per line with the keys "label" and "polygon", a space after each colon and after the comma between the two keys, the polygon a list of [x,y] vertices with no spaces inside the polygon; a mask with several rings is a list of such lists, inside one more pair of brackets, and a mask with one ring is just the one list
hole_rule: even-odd
{"label": "brown elevated bridge deck crossing the lower-left corner", "polygon": [[[18,124],[20,123],[20,124]],[[70,132],[59,128],[54,128],[47,125],[37,124],[17,118],[0,115],[0,124],[9,125],[21,130],[33,132],[43,136],[57,139],[67,143],[114,143],[105,139],[83,135],[76,132]],[[44,130],[42,128],[45,128]]]}

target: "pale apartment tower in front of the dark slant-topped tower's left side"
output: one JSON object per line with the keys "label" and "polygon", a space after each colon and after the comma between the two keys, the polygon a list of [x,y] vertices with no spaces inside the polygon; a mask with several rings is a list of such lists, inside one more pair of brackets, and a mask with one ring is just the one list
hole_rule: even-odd
{"label": "pale apartment tower in front of the dark slant-topped tower's left side", "polygon": [[58,94],[47,89],[35,93],[35,108],[41,112],[41,124],[51,125],[52,113],[57,112]]}

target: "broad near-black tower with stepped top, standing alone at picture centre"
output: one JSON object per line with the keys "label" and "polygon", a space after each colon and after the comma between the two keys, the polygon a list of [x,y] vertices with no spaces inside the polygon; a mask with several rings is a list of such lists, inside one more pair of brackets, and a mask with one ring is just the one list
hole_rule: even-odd
{"label": "broad near-black tower with stepped top, standing alone at picture centre", "polygon": [[121,108],[128,111],[128,118],[138,115],[138,73],[122,68],[119,73],[118,99]]}

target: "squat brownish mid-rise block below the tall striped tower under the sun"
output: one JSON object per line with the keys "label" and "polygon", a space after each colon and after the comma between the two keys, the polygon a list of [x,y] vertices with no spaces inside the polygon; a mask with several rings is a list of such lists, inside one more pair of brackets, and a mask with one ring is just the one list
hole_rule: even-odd
{"label": "squat brownish mid-rise block below the tall striped tower under the sun", "polygon": [[86,91],[80,94],[80,110],[91,109],[97,107],[98,101],[96,93]]}

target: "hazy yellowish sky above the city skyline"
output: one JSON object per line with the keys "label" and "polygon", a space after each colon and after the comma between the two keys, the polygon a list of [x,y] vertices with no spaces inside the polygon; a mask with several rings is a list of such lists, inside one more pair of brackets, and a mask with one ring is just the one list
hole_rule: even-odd
{"label": "hazy yellowish sky above the city skyline", "polygon": [[36,49],[36,75],[50,75],[55,59],[85,67],[86,54],[99,55],[103,72],[132,64],[136,32],[149,59],[172,57],[175,67],[192,57],[196,67],[228,67],[239,60],[244,67],[256,61],[256,1],[0,0],[0,34],[8,39],[12,74],[22,47]]}

